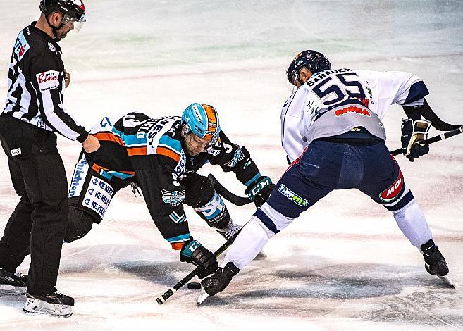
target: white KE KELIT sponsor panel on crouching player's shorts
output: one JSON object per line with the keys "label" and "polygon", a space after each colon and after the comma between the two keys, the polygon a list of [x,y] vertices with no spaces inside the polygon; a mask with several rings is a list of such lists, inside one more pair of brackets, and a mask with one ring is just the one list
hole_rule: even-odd
{"label": "white KE KELIT sponsor panel on crouching player's shorts", "polygon": [[84,201],[82,201],[82,206],[85,206],[103,218],[106,209],[111,202],[114,189],[101,178],[92,176],[92,179],[89,182],[87,187],[87,192],[85,192]]}

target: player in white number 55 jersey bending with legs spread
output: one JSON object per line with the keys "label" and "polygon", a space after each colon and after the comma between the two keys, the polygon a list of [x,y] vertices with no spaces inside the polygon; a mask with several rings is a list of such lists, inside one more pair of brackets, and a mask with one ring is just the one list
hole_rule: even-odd
{"label": "player in white number 55 jersey bending with legs spread", "polygon": [[389,211],[402,233],[423,254],[431,275],[450,280],[445,258],[399,165],[385,146],[381,120],[392,104],[403,106],[402,149],[409,161],[428,153],[426,139],[432,120],[439,130],[452,130],[437,118],[424,97],[424,82],[410,73],[341,68],[317,51],[303,51],[288,68],[297,90],[283,106],[281,142],[290,167],[266,203],[257,208],[216,273],[202,280],[203,294],[221,292],[264,247],[316,201],[334,189],[356,188]]}

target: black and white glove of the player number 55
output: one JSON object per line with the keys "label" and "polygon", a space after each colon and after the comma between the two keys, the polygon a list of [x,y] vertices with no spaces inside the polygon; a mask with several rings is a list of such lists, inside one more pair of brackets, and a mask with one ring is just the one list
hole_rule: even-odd
{"label": "black and white glove of the player number 55", "polygon": [[421,144],[424,139],[428,139],[429,123],[427,120],[412,120],[411,118],[403,120],[402,123],[402,153],[409,159],[415,161],[415,158],[424,156],[429,152],[429,146]]}

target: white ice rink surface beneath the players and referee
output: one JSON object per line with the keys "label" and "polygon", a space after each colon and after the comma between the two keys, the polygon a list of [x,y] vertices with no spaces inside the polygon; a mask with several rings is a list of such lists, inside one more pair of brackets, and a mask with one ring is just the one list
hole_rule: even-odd
{"label": "white ice rink surface beneath the players and referee", "polygon": [[[284,75],[303,49],[333,68],[405,70],[424,79],[443,120],[463,124],[463,1],[87,0],[87,23],[61,42],[69,113],[87,128],[107,113],[180,115],[192,102],[214,105],[223,130],[251,151],[274,181],[286,168],[280,109]],[[16,35],[37,19],[38,0],[0,0],[0,96],[6,96]],[[3,107],[3,106],[2,106]],[[384,124],[400,146],[403,112]],[[431,130],[431,135],[436,135]],[[68,177],[80,144],[59,138]],[[0,230],[18,202],[0,155]],[[58,289],[76,300],[71,318],[25,316],[24,296],[0,298],[0,330],[463,330],[463,137],[431,146],[409,163],[407,185],[424,210],[456,283],[449,289],[392,215],[354,190],[329,194],[266,246],[225,292],[200,307],[198,291],[155,298],[192,270],[154,227],[129,189],[101,225],[63,246]],[[206,167],[243,194],[233,175]],[[228,204],[237,223],[252,206]],[[211,250],[223,239],[186,207],[190,230]],[[27,259],[18,271],[27,273]]]}

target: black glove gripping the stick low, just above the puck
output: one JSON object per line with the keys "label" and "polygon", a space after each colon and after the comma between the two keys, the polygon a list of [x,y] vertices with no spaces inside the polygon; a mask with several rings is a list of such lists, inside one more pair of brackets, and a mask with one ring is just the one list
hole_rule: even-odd
{"label": "black glove gripping the stick low, just above the puck", "polygon": [[218,267],[216,256],[197,240],[191,240],[183,245],[183,249],[180,251],[180,261],[197,266],[199,279],[211,275]]}

